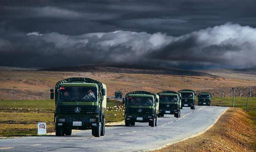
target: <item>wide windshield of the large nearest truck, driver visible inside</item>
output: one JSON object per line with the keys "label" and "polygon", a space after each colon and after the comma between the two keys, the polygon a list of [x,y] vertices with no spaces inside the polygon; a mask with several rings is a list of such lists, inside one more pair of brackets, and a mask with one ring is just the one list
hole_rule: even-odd
{"label": "wide windshield of the large nearest truck, driver visible inside", "polygon": [[97,101],[97,88],[96,87],[60,87],[59,101],[95,102]]}

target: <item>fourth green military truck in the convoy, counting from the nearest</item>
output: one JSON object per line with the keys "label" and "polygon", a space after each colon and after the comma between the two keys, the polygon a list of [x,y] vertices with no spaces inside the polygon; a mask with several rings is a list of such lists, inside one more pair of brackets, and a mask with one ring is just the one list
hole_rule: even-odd
{"label": "fourth green military truck in the convoy, counting from the nearest", "polygon": [[196,94],[193,90],[180,90],[181,94],[181,109],[182,107],[190,107],[190,109],[196,109]]}

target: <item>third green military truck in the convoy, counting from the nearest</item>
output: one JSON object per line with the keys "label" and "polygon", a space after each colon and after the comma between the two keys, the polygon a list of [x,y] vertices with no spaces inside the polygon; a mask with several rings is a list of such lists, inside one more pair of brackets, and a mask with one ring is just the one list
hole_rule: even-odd
{"label": "third green military truck in the convoy, counting from the nearest", "polygon": [[164,114],[180,117],[181,94],[174,91],[159,92],[159,113],[158,117],[164,117]]}

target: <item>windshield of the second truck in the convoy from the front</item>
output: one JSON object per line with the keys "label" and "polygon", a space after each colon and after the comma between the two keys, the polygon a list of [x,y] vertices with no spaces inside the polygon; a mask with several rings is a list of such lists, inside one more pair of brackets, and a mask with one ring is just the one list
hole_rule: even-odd
{"label": "windshield of the second truck in the convoy from the front", "polygon": [[152,97],[129,97],[127,105],[152,106]]}

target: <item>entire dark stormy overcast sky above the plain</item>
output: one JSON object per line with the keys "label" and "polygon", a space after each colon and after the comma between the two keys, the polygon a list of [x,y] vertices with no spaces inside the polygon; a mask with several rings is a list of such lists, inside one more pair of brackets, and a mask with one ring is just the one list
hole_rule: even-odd
{"label": "entire dark stormy overcast sky above the plain", "polygon": [[255,68],[256,1],[0,1],[0,66]]}

